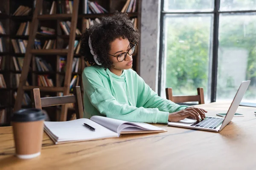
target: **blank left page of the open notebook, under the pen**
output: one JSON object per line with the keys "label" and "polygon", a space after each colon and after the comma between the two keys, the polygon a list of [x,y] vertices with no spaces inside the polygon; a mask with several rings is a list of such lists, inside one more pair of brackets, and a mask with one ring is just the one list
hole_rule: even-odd
{"label": "blank left page of the open notebook, under the pen", "polygon": [[[84,126],[84,123],[94,127],[92,131]],[[66,122],[44,122],[44,125],[52,134],[58,137],[57,142],[93,140],[108,137],[118,137],[118,134],[109,130],[90,119],[76,119]]]}

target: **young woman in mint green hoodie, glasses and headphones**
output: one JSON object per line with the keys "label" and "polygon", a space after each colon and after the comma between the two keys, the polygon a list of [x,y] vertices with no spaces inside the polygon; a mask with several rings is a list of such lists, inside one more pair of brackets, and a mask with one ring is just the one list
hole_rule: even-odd
{"label": "young woman in mint green hoodie, glasses and headphones", "polygon": [[207,111],[162,99],[131,69],[139,36],[128,15],[119,12],[83,33],[81,55],[92,65],[82,74],[84,117],[149,123],[204,119]]}

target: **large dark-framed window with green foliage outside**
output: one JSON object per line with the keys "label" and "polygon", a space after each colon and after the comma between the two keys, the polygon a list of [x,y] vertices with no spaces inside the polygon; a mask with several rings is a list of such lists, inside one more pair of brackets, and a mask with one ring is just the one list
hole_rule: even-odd
{"label": "large dark-framed window with green foliage outside", "polygon": [[256,0],[162,0],[158,93],[256,102]]}

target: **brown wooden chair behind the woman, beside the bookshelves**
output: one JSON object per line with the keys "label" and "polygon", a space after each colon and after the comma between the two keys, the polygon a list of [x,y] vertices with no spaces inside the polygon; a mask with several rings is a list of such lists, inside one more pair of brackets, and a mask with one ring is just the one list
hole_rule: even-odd
{"label": "brown wooden chair behind the woman, beside the bookshelves", "polygon": [[[73,88],[73,94],[70,96],[56,96],[56,97],[40,97],[39,88],[33,89],[34,108],[42,109],[43,107],[65,105],[68,103],[75,104],[76,119],[83,118],[83,102],[81,98],[80,86]],[[62,121],[62,120],[61,120]]]}

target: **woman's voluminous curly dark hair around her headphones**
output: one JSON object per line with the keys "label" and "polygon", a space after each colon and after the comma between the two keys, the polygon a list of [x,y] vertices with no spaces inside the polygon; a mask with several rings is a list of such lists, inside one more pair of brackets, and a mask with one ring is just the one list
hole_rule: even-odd
{"label": "woman's voluminous curly dark hair around her headphones", "polygon": [[128,17],[128,14],[115,11],[112,16],[102,17],[100,24],[95,24],[86,29],[81,37],[80,54],[90,65],[96,64],[90,53],[88,39],[91,39],[94,53],[104,68],[111,68],[113,62],[108,57],[110,43],[116,38],[127,38],[129,42],[137,43],[140,37],[137,28]]}

